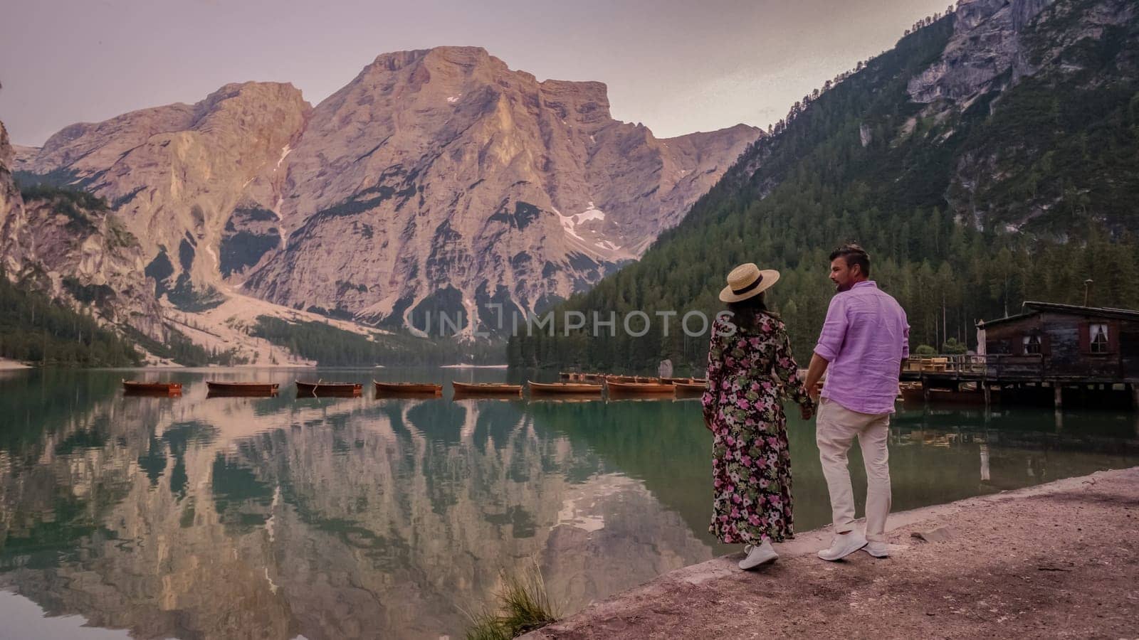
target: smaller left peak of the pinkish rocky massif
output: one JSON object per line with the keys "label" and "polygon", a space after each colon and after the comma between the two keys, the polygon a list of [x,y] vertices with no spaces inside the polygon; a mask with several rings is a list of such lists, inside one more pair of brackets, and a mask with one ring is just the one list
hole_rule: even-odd
{"label": "smaller left peak of the pinkish rocky massif", "polygon": [[274,170],[310,110],[289,84],[228,84],[195,105],[67,126],[24,154],[17,178],[105,198],[138,238],[156,295],[196,311],[220,301],[219,252],[256,216],[246,212],[272,202]]}

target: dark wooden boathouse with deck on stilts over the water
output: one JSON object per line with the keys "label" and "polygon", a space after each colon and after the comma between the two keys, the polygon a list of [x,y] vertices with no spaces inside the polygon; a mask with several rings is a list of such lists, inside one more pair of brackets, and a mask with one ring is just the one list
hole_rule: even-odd
{"label": "dark wooden boathouse with deck on stilts over the water", "polygon": [[1139,408],[1139,311],[1025,302],[977,323],[977,353],[915,356],[901,379],[932,394]]}

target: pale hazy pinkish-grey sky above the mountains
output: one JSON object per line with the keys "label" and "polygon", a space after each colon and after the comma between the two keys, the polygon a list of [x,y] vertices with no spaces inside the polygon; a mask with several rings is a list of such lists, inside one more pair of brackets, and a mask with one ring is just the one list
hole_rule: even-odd
{"label": "pale hazy pinkish-grey sky above the mountains", "polygon": [[539,80],[595,80],[659,138],[767,128],[949,0],[25,0],[0,20],[0,121],[40,146],[75,122],[229,82],[317,105],[376,56],[478,46]]}

